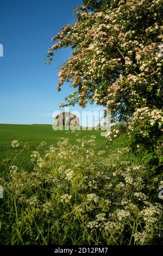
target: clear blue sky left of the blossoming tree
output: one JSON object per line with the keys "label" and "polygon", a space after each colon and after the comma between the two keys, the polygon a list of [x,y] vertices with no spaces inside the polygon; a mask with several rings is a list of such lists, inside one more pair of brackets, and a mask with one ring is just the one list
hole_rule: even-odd
{"label": "clear blue sky left of the blossoming tree", "polygon": [[53,35],[76,20],[70,13],[80,4],[82,0],[0,0],[0,123],[53,123],[52,113],[72,91],[69,84],[61,92],[56,89],[57,68],[71,56],[71,49],[55,53],[52,65],[45,65],[44,59]]}

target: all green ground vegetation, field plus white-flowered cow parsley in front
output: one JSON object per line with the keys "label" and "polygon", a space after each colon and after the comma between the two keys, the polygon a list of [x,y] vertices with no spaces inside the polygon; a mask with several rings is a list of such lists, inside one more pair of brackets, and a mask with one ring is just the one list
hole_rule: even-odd
{"label": "all green ground vegetation, field plus white-flowered cow parsley in front", "polygon": [[125,135],[108,144],[99,131],[1,131],[1,244],[161,244],[160,181],[131,155]]}

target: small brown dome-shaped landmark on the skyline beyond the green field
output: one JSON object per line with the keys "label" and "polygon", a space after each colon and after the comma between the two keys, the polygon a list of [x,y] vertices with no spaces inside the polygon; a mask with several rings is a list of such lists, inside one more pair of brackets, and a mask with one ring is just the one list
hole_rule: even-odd
{"label": "small brown dome-shaped landmark on the skyline beyond the green field", "polygon": [[62,112],[56,115],[54,118],[54,125],[59,126],[59,125],[74,125],[74,126],[79,126],[80,125],[80,120],[79,118],[70,113],[70,112]]}

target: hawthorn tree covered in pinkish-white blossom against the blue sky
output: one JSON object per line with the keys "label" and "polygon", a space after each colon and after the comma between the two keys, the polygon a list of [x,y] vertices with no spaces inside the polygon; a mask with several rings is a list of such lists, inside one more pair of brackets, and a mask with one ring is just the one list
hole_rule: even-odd
{"label": "hawthorn tree covered in pinkish-white blossom against the blue sky", "polygon": [[[58,90],[74,92],[61,106],[103,105],[127,124],[134,150],[162,157],[162,0],[83,0],[77,21],[52,39],[54,51],[71,46],[72,57],[59,72]],[[116,131],[117,132],[117,131]],[[117,134],[117,133],[116,133]],[[114,132],[108,138],[112,141]],[[159,151],[157,151],[159,150]],[[151,159],[155,156],[151,154]],[[149,157],[149,158],[150,158]],[[159,159],[159,160],[158,160]]]}

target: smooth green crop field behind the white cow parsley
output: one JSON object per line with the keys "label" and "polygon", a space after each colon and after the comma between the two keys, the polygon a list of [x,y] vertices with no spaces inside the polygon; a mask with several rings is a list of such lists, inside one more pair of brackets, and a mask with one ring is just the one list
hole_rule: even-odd
{"label": "smooth green crop field behind the white cow parsley", "polygon": [[[78,136],[76,136],[78,133]],[[45,149],[49,145],[56,145],[60,137],[69,138],[72,144],[76,143],[77,138],[82,138],[87,135],[96,135],[96,143],[101,145],[102,149],[106,149],[106,139],[101,136],[101,131],[89,131],[81,130],[73,133],[67,133],[67,131],[54,131],[52,125],[12,125],[12,124],[0,124],[0,161],[3,159],[13,159],[15,156],[15,149],[11,147],[11,142],[14,139],[18,141],[27,142],[30,148],[23,152],[16,159],[18,166],[25,167],[29,160],[30,153],[37,149],[42,141],[47,143]],[[120,138],[115,141],[111,147],[121,148],[123,145],[127,145],[127,140]],[[44,150],[45,150],[44,149]],[[21,149],[17,149],[21,151]]]}

